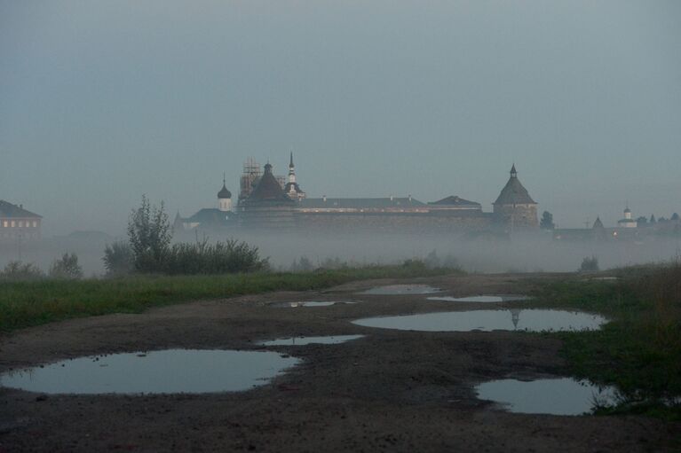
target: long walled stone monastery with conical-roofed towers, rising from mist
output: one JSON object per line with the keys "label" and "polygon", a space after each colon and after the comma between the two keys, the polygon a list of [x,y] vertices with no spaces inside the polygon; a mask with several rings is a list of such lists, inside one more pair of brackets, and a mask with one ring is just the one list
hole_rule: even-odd
{"label": "long walled stone monastery with conical-roofed towers, rising from mist", "polygon": [[176,229],[379,232],[461,232],[527,230],[538,228],[537,204],[518,178],[511,176],[493,203],[493,211],[458,196],[424,203],[408,197],[308,198],[297,183],[293,155],[289,175],[275,176],[268,162],[263,171],[252,159],[244,164],[239,198],[234,207],[232,193],[218,192],[218,207],[204,208],[175,221]]}

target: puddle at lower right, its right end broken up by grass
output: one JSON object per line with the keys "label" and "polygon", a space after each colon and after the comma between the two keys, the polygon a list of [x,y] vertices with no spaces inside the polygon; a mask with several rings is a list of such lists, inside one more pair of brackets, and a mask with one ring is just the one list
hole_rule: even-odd
{"label": "puddle at lower right, its right end broken up by grass", "polygon": [[581,415],[591,412],[597,402],[616,402],[613,387],[597,387],[589,381],[569,378],[493,380],[475,390],[480,400],[497,402],[506,410],[522,414]]}

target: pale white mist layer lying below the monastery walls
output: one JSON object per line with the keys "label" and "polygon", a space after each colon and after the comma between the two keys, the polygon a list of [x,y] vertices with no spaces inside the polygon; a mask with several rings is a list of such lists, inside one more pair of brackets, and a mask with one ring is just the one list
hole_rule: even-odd
{"label": "pale white mist layer lying below the monastery walls", "polygon": [[[191,236],[191,237],[190,237]],[[200,239],[204,238],[203,236]],[[550,232],[531,237],[475,240],[451,236],[377,235],[377,234],[240,234],[209,240],[236,238],[257,246],[262,257],[269,258],[274,269],[289,270],[294,261],[307,258],[313,268],[328,261],[349,265],[394,264],[408,259],[426,259],[435,251],[441,264],[456,265],[469,272],[557,272],[579,269],[582,259],[596,256],[600,269],[649,262],[664,262],[681,255],[681,239],[652,238],[645,242],[559,242]],[[183,240],[194,240],[186,235]],[[104,273],[104,247],[114,238],[51,238],[42,243],[5,244],[0,253],[0,267],[21,256],[43,270],[65,252],[78,255],[86,277]],[[124,240],[124,239],[123,239]]]}

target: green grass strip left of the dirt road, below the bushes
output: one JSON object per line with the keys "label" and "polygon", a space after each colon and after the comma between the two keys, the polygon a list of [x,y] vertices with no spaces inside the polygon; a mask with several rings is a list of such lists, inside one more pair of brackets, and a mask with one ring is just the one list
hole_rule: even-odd
{"label": "green grass strip left of the dirt road, below the bushes", "polygon": [[0,332],[81,316],[139,313],[171,303],[272,291],[305,291],[352,280],[427,277],[460,272],[420,263],[300,273],[134,276],[112,279],[0,282]]}

